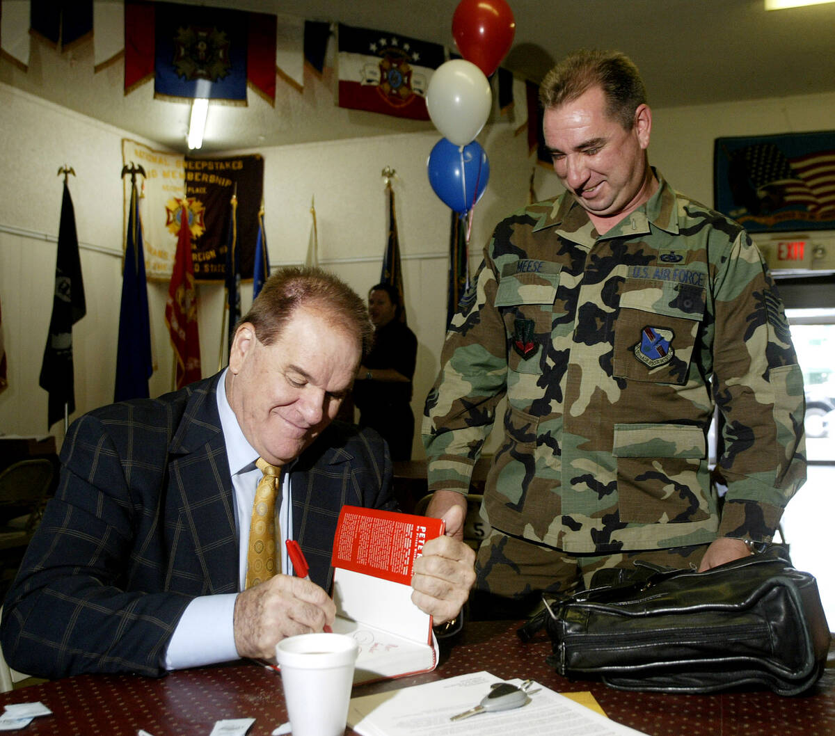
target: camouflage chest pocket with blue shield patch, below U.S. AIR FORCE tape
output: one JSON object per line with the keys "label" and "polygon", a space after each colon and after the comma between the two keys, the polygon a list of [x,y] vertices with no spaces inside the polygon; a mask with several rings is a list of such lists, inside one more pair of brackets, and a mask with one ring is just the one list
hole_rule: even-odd
{"label": "camouflage chest pocket with blue shield patch, below U.S. AIR FORCE tape", "polygon": [[703,286],[625,280],[615,320],[615,376],[684,385],[705,300]]}

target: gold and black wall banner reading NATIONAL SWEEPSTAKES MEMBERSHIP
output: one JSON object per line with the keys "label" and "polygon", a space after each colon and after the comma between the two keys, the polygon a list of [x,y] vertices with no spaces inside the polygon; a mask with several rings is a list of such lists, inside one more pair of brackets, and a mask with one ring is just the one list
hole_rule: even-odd
{"label": "gold and black wall banner reading NATIONAL SWEEPSTAKES MEMBERSHIP", "polygon": [[[145,239],[145,273],[149,280],[168,281],[171,278],[184,201],[189,213],[195,280],[224,280],[233,193],[238,199],[240,275],[251,279],[258,238],[258,211],[263,197],[264,159],[260,155],[192,159],[123,139],[122,159],[124,164],[133,162],[145,171],[144,181],[141,185],[138,182],[139,213]],[[123,221],[127,227],[128,177],[124,178],[123,188]]]}

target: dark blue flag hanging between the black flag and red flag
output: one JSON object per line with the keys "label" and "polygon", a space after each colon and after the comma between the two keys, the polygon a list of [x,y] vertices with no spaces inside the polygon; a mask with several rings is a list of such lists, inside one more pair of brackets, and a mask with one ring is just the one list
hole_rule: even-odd
{"label": "dark blue flag hanging between the black flag and red flag", "polygon": [[148,282],[139,196],[136,182],[130,189],[128,236],[124,244],[122,306],[119,310],[119,344],[116,348],[116,389],[114,401],[147,399],[148,379],[154,372],[151,360],[151,328],[148,316]]}

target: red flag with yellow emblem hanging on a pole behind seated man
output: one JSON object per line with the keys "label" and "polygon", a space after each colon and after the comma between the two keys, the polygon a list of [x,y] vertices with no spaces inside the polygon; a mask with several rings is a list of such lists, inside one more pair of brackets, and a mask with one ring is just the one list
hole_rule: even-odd
{"label": "red flag with yellow emblem hanging on a pole behind seated man", "polygon": [[180,209],[180,234],[174,270],[165,303],[165,324],[174,347],[176,388],[199,381],[200,335],[197,330],[197,290],[195,267],[191,260],[191,230],[189,208],[184,201]]}

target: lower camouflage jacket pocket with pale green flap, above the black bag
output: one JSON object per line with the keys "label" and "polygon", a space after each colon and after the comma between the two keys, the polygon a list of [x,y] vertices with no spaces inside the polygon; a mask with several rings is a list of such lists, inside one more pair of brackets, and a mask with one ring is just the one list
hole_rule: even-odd
{"label": "lower camouflage jacket pocket with pale green flap, above the black bag", "polygon": [[621,522],[704,522],[716,513],[701,427],[615,424],[612,454]]}

